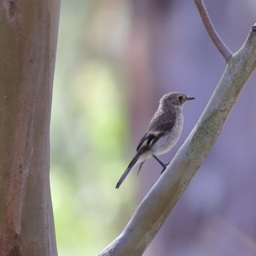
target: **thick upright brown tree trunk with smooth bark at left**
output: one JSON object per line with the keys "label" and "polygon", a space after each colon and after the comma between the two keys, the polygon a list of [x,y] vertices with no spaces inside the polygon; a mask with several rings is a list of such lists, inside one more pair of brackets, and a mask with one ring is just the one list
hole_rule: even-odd
{"label": "thick upright brown tree trunk with smooth bark at left", "polygon": [[0,1],[0,252],[57,255],[49,125],[60,0]]}

